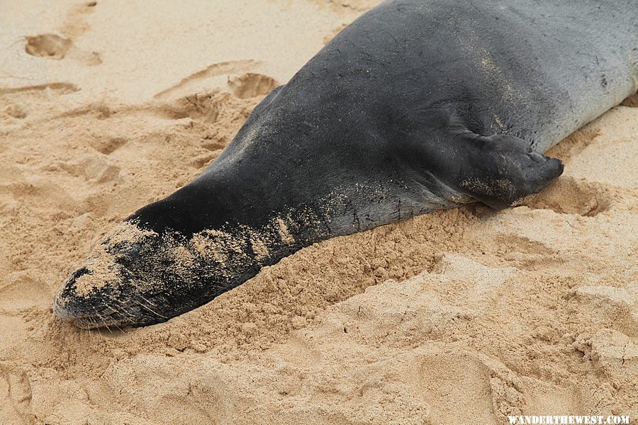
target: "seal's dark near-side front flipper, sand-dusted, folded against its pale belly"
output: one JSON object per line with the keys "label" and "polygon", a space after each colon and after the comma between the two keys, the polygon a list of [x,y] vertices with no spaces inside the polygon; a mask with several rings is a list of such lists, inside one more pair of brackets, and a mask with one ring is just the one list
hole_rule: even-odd
{"label": "seal's dark near-side front flipper, sand-dusted, folded against its pale belly", "polygon": [[461,166],[458,186],[492,208],[515,205],[563,172],[559,159],[532,152],[530,143],[518,137],[471,132],[461,137],[469,143],[469,154]]}

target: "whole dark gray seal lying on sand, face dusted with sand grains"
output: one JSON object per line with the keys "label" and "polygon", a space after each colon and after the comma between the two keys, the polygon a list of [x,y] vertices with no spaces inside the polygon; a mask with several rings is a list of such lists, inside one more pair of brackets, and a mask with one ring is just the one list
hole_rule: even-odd
{"label": "whole dark gray seal lying on sand, face dusted with sand grains", "polygon": [[53,312],[164,322],[320,240],[513,205],[561,174],[542,152],[636,91],[637,23],[635,0],[386,1],[264,98],[201,176],[128,217]]}

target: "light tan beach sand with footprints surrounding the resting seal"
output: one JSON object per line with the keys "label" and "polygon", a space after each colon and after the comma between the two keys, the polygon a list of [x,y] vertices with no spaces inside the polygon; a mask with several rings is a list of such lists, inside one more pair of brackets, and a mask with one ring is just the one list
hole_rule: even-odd
{"label": "light tan beach sand with footprints surrounding the resting seal", "polygon": [[310,246],[166,324],[54,291],[373,0],[0,1],[0,424],[638,420],[638,110],[552,150],[527,206]]}

